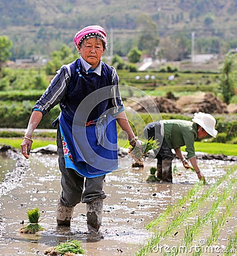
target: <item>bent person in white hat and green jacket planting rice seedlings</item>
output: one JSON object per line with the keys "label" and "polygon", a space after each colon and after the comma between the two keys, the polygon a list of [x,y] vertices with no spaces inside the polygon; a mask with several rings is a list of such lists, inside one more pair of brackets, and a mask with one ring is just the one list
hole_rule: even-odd
{"label": "bent person in white hat and green jacket planting rice seedlings", "polygon": [[[187,158],[196,171],[199,180],[204,180],[204,175],[197,165],[194,141],[207,135],[216,137],[214,128],[216,120],[211,114],[195,113],[192,121],[186,120],[160,120],[149,123],[143,133],[146,138],[158,140],[160,147],[155,151],[157,158],[157,177],[164,182],[172,183],[172,160],[175,154],[182,161],[184,168],[190,168],[187,159],[180,147],[186,146]],[[174,149],[175,154],[171,149]]]}

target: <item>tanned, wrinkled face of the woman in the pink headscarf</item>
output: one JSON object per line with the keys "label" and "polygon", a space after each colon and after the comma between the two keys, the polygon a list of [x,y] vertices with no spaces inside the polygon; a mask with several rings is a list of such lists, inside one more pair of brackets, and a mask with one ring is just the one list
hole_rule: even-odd
{"label": "tanned, wrinkled face of the woman in the pink headscarf", "polygon": [[96,68],[104,54],[103,42],[93,37],[85,39],[81,46],[78,46],[78,51],[83,59],[91,65],[91,68]]}

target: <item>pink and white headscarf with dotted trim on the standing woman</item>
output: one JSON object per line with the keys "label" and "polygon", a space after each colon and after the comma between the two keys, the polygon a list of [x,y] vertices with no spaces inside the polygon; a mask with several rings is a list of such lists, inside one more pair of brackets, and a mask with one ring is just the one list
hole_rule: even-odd
{"label": "pink and white headscarf with dotted trim on the standing woman", "polygon": [[103,27],[100,25],[89,25],[88,27],[82,28],[82,30],[79,30],[78,33],[75,34],[74,37],[74,44],[77,48],[78,45],[88,36],[97,35],[102,37],[102,39],[105,41],[105,46],[107,46],[107,34]]}

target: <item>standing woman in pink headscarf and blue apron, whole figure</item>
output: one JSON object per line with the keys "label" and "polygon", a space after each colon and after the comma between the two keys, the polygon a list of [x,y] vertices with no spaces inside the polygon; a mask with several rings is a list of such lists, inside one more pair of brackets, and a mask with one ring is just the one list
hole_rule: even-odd
{"label": "standing woman in pink headscarf and blue apron, whole figure", "polygon": [[57,126],[62,173],[57,225],[70,226],[73,208],[82,202],[87,203],[88,231],[98,232],[106,197],[105,174],[118,167],[116,120],[127,133],[130,145],[141,148],[142,142],[134,136],[127,120],[116,70],[101,61],[107,49],[104,28],[99,25],[82,28],[76,33],[74,43],[81,57],[57,71],[34,105],[21,153],[29,158],[34,129],[59,103],[61,112],[53,122]]}

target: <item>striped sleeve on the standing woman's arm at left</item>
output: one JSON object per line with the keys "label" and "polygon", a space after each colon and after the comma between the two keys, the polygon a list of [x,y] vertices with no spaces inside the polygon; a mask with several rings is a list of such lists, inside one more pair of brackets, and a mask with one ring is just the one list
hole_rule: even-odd
{"label": "striped sleeve on the standing woman's arm at left", "polygon": [[66,88],[70,82],[70,77],[71,69],[69,65],[63,65],[62,68],[57,71],[55,77],[50,82],[49,87],[36,102],[33,110],[37,109],[41,111],[43,116],[49,113],[49,111],[64,97]]}

